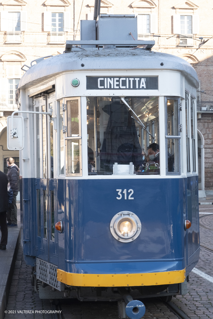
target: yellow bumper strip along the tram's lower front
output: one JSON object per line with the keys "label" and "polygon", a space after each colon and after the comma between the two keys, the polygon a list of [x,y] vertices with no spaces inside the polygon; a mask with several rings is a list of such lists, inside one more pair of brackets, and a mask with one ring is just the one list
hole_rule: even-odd
{"label": "yellow bumper strip along the tram's lower front", "polygon": [[58,281],[82,287],[157,286],[181,283],[185,278],[185,269],[141,274],[75,274],[57,269]]}

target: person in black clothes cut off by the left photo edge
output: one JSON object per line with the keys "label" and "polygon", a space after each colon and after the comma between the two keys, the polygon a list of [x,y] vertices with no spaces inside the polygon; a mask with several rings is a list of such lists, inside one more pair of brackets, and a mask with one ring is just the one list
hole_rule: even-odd
{"label": "person in black clothes cut off by the left photo edge", "polygon": [[0,249],[6,249],[7,245],[7,210],[8,210],[8,195],[7,195],[7,175],[0,171],[0,227],[2,238]]}

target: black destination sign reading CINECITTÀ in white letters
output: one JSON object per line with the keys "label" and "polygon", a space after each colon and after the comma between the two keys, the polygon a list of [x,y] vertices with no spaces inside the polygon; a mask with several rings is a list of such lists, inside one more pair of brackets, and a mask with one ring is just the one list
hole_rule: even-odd
{"label": "black destination sign reading CINECITT\u00c0 in white letters", "polygon": [[158,90],[158,77],[87,77],[87,90]]}

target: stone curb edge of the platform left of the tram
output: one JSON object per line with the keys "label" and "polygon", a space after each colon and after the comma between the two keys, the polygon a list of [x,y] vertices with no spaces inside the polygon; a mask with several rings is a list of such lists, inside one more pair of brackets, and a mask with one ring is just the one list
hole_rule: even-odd
{"label": "stone curb edge of the platform left of the tram", "polygon": [[19,229],[19,234],[17,236],[16,246],[15,246],[13,256],[11,259],[10,270],[8,272],[8,275],[7,275],[6,285],[4,286],[3,291],[1,291],[1,289],[0,289],[0,319],[4,319],[4,311],[5,311],[6,306],[7,306],[8,295],[9,295],[9,291],[10,291],[11,280],[12,280],[13,270],[15,267],[16,257],[17,257],[18,250],[19,250],[20,239],[21,239],[21,228]]}

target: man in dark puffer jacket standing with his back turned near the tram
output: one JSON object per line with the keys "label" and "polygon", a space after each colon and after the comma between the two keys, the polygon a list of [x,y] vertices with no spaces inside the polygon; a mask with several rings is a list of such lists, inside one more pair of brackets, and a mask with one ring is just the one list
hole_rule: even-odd
{"label": "man in dark puffer jacket standing with his back turned near the tram", "polygon": [[10,205],[10,209],[7,212],[7,226],[8,227],[18,227],[17,225],[17,206],[16,206],[16,196],[18,195],[18,180],[19,180],[19,167],[14,164],[14,159],[9,157],[7,159],[7,177],[10,182],[10,187],[13,191],[13,199]]}

